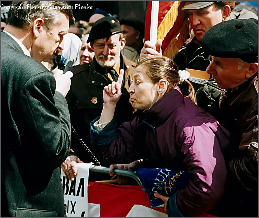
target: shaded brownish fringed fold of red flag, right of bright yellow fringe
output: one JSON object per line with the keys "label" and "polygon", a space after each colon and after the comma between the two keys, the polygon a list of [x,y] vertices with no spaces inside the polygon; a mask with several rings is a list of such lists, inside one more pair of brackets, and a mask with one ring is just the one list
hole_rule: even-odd
{"label": "shaded brownish fringed fold of red flag, right of bright yellow fringe", "polygon": [[174,37],[165,51],[163,55],[168,58],[174,58],[175,54],[179,51],[179,49],[184,45],[184,41],[187,39],[188,34],[191,32],[191,25],[188,19],[186,19],[180,30],[178,31],[176,37]]}

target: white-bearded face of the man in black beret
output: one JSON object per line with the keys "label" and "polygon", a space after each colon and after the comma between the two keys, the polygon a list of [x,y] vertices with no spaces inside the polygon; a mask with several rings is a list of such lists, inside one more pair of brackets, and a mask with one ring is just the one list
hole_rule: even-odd
{"label": "white-bearded face of the man in black beret", "polygon": [[107,38],[96,39],[93,44],[94,56],[102,67],[113,67],[119,61],[120,51],[125,46],[125,39],[119,40],[119,33]]}

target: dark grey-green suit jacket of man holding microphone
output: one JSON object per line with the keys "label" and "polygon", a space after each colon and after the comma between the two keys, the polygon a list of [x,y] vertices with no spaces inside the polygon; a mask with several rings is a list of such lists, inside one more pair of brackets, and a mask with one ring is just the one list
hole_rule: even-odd
{"label": "dark grey-green suit jacket of man holding microphone", "polygon": [[64,216],[70,117],[55,78],[1,32],[1,216]]}

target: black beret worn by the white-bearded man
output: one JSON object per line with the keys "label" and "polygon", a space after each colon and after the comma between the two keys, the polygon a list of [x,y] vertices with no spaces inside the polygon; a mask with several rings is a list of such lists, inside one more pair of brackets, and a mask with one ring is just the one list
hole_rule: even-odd
{"label": "black beret worn by the white-bearded man", "polygon": [[87,43],[94,42],[96,39],[110,37],[116,33],[122,33],[119,21],[114,17],[103,17],[93,24]]}

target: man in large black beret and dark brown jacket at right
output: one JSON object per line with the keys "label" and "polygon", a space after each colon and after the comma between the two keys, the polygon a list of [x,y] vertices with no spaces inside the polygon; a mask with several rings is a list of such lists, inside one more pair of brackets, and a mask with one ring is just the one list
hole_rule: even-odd
{"label": "man in large black beret and dark brown jacket at right", "polygon": [[258,21],[217,24],[202,46],[212,57],[207,73],[223,89],[219,121],[231,134],[228,186],[217,215],[258,217]]}

